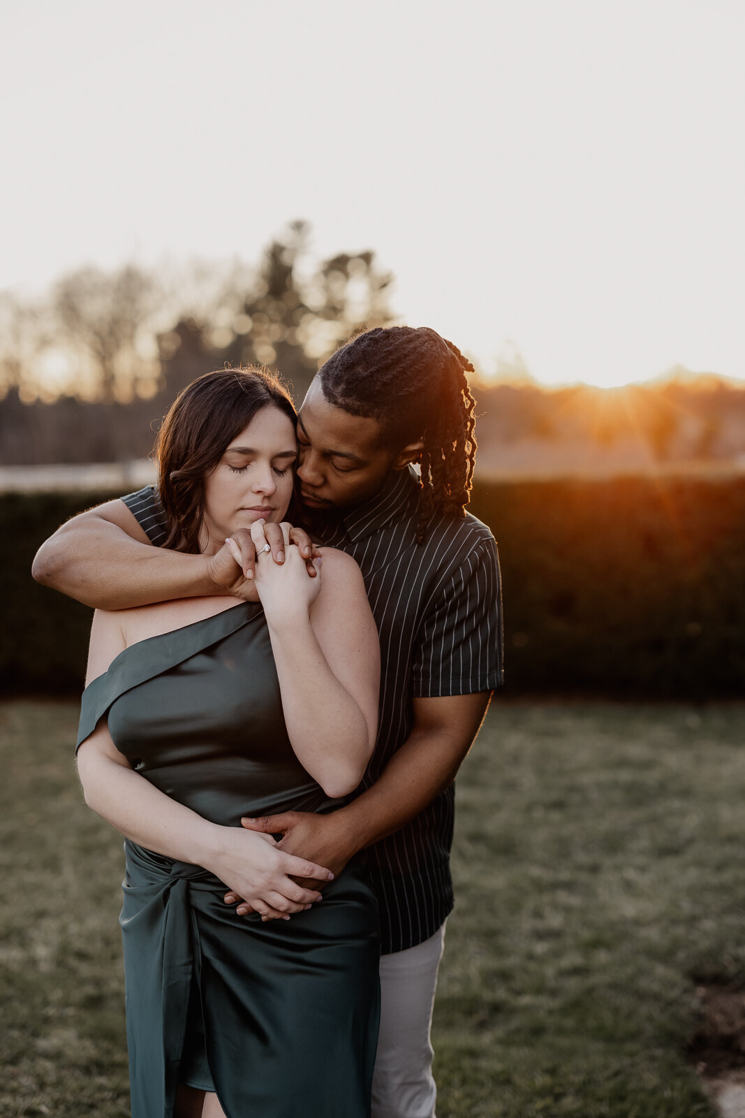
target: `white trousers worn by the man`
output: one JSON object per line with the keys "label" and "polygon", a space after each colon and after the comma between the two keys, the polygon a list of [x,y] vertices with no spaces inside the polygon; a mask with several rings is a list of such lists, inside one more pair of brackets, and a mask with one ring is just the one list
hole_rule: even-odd
{"label": "white trousers worn by the man", "polygon": [[380,960],[380,1036],[372,1118],[434,1118],[430,1025],[445,925],[423,944]]}

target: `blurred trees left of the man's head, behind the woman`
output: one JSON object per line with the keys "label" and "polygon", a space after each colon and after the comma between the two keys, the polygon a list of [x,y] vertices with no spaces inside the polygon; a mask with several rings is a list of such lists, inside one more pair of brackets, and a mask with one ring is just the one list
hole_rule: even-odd
{"label": "blurred trees left of the man's head, behind the woman", "polygon": [[179,391],[225,364],[278,368],[299,402],[340,342],[393,318],[373,252],[317,264],[308,238],[294,221],[256,267],[86,267],[36,303],[0,296],[0,461],[143,457]]}

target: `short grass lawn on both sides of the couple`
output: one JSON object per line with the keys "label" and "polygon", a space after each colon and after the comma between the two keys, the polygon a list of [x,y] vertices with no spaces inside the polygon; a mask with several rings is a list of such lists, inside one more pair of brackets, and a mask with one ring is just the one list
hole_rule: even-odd
{"label": "short grass lawn on both sides of the couple", "polygon": [[[75,724],[0,705],[3,1118],[128,1115],[121,840]],[[684,1048],[696,983],[745,975],[744,742],[745,705],[495,704],[458,781],[438,1118],[711,1115]]]}

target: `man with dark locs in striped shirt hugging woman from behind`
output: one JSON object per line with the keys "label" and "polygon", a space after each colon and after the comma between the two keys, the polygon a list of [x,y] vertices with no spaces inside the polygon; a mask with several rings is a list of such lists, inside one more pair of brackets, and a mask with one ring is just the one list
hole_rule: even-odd
{"label": "man with dark locs in striped shirt hugging woman from behind", "polygon": [[[502,682],[496,544],[465,513],[476,451],[467,371],[434,331],[392,326],[343,345],[308,390],[298,495],[316,539],[362,569],[381,642],[379,736],[345,807],[243,821],[334,873],[367,851],[383,953],[374,1118],[434,1115],[429,1030],[452,908],[452,780]],[[164,531],[145,489],[63,525],[35,577],[107,609],[226,588],[246,596],[256,552],[238,534],[242,570],[227,549],[208,559],[151,547]],[[266,536],[283,561],[278,525]],[[307,538],[295,539],[309,555]],[[250,911],[250,899],[227,899]]]}

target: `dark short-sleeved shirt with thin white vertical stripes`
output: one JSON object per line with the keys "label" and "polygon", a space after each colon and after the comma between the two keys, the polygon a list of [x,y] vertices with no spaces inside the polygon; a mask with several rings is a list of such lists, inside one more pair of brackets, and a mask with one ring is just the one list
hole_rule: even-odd
{"label": "dark short-sleeved shirt with thin white vertical stripes", "polygon": [[[151,487],[124,498],[155,544],[165,539]],[[497,547],[475,517],[436,514],[418,544],[421,490],[412,470],[321,533],[360,565],[381,646],[378,742],[362,787],[407,740],[412,699],[491,691],[502,683]],[[384,954],[432,936],[452,909],[455,786],[367,851],[381,906]]]}

